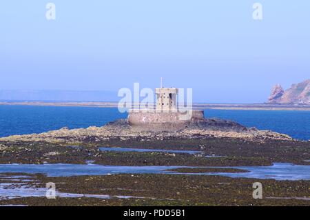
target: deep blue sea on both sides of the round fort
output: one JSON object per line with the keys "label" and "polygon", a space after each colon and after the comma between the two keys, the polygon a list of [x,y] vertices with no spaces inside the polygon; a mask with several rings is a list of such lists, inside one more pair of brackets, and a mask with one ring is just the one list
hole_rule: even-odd
{"label": "deep blue sea on both sides of the round fort", "polygon": [[[117,108],[0,106],[0,137],[12,134],[47,132],[63,127],[103,126],[115,119],[125,119]],[[309,111],[205,110],[205,117],[231,119],[245,126],[310,139]]]}

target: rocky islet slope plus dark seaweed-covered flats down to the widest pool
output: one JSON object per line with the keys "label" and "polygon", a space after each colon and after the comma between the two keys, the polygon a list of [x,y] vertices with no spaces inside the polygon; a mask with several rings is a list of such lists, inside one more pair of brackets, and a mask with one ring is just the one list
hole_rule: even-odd
{"label": "rocky islet slope plus dark seaweed-covered flats down to the widest pool", "polygon": [[[99,147],[197,150],[107,152]],[[205,157],[218,155],[221,157]],[[63,128],[0,139],[0,163],[94,163],[116,166],[268,166],[309,164],[310,142],[286,134],[245,128],[233,121],[205,119],[177,132],[136,131],[125,120],[101,128]]]}

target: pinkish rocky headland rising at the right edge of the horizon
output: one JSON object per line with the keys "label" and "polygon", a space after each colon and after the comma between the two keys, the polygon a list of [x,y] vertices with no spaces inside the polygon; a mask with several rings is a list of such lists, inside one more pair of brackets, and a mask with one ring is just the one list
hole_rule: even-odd
{"label": "pinkish rocky headland rising at the right edge of the horizon", "polygon": [[273,86],[268,103],[310,105],[310,79],[293,84],[285,91],[279,84]]}

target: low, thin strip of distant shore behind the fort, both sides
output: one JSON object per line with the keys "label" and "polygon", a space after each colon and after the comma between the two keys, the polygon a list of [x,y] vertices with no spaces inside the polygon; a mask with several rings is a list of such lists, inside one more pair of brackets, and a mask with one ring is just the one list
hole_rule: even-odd
{"label": "low, thin strip of distant shore behind the fort, both sides", "polygon": [[[117,108],[117,102],[104,101],[0,101],[0,106],[63,106],[90,108]],[[194,109],[221,110],[310,110],[310,106],[268,103],[194,103]]]}

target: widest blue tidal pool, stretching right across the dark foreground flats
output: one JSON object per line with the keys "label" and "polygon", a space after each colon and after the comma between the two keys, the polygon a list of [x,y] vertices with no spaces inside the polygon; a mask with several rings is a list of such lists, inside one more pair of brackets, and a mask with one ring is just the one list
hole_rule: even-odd
{"label": "widest blue tidal pool, stretching right across the dark foreground flats", "polygon": [[[188,166],[103,166],[96,164],[0,164],[0,173],[46,174],[48,177],[70,177],[81,175],[107,174],[184,174],[167,171],[176,168],[191,168]],[[197,168],[197,167],[196,167]],[[229,167],[225,167],[229,168]],[[230,167],[249,172],[205,172],[186,173],[200,175],[218,175],[234,178],[276,179],[276,180],[310,180],[310,166],[293,165],[291,163],[274,163],[272,166],[240,166]]]}

